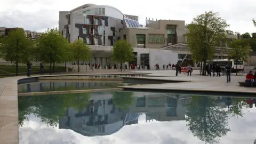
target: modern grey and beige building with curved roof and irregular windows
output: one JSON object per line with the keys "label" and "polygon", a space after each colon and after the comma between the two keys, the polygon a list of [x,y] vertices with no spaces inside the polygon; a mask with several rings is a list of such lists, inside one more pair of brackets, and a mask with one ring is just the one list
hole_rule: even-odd
{"label": "modern grey and beige building with curved roof and irregular windows", "polygon": [[[154,69],[156,63],[162,67],[179,61],[194,66],[186,47],[185,21],[146,18],[146,27],[142,27],[138,19],[113,6],[85,4],[60,11],[59,30],[70,43],[82,38],[91,47],[91,60],[84,63],[118,65],[110,59],[112,47],[119,39],[126,39],[134,47],[134,61],[129,64]],[[221,58],[227,53],[217,50],[215,55]]]}

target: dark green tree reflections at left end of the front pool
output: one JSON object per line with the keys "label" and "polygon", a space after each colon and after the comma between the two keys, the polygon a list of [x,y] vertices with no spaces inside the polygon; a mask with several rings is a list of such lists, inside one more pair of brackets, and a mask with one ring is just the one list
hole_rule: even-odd
{"label": "dark green tree reflections at left end of the front pool", "polygon": [[78,110],[86,107],[89,102],[90,93],[76,94],[52,94],[20,97],[19,105],[19,126],[29,121],[27,118],[33,114],[41,119],[41,122],[48,126],[57,126],[59,117],[67,113],[67,108],[74,107]]}

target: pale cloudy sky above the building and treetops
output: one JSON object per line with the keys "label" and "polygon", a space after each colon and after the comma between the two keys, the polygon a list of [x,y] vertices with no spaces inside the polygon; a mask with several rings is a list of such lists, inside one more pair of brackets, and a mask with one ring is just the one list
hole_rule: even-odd
{"label": "pale cloudy sky above the building and treetops", "polygon": [[[190,23],[205,11],[219,12],[227,20],[230,30],[254,33],[252,19],[256,19],[255,0],[179,0],[179,1],[117,1],[117,0],[9,0],[1,1],[0,27],[22,27],[26,30],[44,32],[58,27],[59,11],[70,11],[87,3],[110,5],[125,14],[138,15],[139,23],[145,25],[146,17],[154,19],[185,20]],[[2,2],[3,1],[3,2]]]}

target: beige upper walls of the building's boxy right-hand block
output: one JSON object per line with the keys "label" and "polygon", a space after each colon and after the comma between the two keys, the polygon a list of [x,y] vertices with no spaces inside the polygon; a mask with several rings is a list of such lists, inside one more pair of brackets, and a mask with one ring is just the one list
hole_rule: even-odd
{"label": "beige upper walls of the building's boxy right-hand block", "polygon": [[[126,39],[129,43],[132,44],[133,47],[137,47],[137,37],[136,34],[144,34],[146,35],[146,45],[147,48],[160,48],[162,46],[167,45],[167,25],[176,25],[177,31],[177,42],[183,43],[185,42],[185,21],[178,20],[158,20],[154,23],[150,23],[147,27],[142,28],[124,28],[121,33],[121,39],[124,39],[124,35],[126,35]],[[148,43],[148,34],[164,34],[165,43],[164,44],[152,44]]]}

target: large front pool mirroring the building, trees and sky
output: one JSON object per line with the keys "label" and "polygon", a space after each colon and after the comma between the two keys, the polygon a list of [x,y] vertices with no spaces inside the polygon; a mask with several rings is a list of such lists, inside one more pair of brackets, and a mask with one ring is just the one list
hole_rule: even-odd
{"label": "large front pool mirroring the building, trees and sky", "polygon": [[253,143],[256,99],[146,92],[18,97],[19,143]]}

